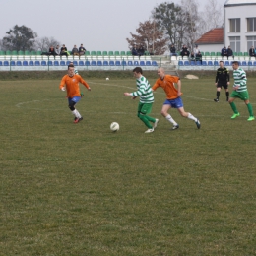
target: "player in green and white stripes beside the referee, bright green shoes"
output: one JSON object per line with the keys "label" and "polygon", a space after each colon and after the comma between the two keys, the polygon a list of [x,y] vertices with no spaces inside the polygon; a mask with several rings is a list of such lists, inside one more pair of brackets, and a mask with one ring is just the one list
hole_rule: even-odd
{"label": "player in green and white stripes beside the referee, bright green shoes", "polygon": [[240,98],[246,104],[250,114],[247,121],[253,121],[255,118],[253,115],[252,105],[249,101],[249,94],[248,94],[247,85],[246,85],[247,83],[246,73],[242,68],[239,67],[238,61],[232,62],[232,68],[233,68],[234,85],[233,85],[233,92],[231,93],[231,96],[228,100],[234,112],[231,119],[234,119],[240,115],[236,108],[235,103],[233,102],[235,98]]}

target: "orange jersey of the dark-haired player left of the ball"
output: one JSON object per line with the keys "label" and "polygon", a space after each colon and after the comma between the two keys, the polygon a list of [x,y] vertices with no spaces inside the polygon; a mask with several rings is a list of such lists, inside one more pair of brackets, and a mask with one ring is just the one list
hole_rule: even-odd
{"label": "orange jersey of the dark-haired player left of the ball", "polygon": [[66,85],[68,97],[81,96],[79,83],[83,84],[87,89],[90,88],[80,75],[74,75],[73,77],[65,75],[60,82],[59,88],[62,89]]}

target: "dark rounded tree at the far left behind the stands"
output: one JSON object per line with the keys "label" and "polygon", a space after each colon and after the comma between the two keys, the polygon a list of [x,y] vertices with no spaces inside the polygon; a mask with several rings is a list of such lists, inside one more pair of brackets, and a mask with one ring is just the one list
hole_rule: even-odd
{"label": "dark rounded tree at the far left behind the stands", "polygon": [[37,37],[37,33],[32,29],[18,25],[15,25],[13,29],[6,32],[8,35],[3,38],[3,47],[7,50],[32,50],[34,39]]}

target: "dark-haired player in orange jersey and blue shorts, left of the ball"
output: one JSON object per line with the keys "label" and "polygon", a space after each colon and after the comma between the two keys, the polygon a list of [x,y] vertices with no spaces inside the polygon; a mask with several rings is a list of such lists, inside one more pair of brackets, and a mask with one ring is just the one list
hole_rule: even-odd
{"label": "dark-haired player in orange jersey and blue shorts, left of the ball", "polygon": [[[68,66],[68,74],[65,75],[59,85],[60,90],[67,90],[67,97],[69,102],[69,108],[75,115],[74,123],[78,123],[83,120],[83,117],[79,111],[75,108],[76,103],[81,99],[81,94],[79,90],[79,83],[83,84],[88,91],[91,91],[90,86],[80,75],[75,74],[75,68],[73,64]],[[66,85],[66,87],[65,87]]]}

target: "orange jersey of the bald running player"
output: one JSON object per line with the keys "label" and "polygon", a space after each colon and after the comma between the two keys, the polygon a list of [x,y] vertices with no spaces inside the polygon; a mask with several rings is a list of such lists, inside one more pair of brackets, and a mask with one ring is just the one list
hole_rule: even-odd
{"label": "orange jersey of the bald running player", "polygon": [[159,78],[155,85],[152,87],[152,90],[157,90],[159,87],[161,87],[164,92],[166,93],[167,99],[175,99],[178,96],[178,91],[174,87],[174,83],[178,83],[179,77],[174,77],[170,75],[165,75],[163,80]]}

